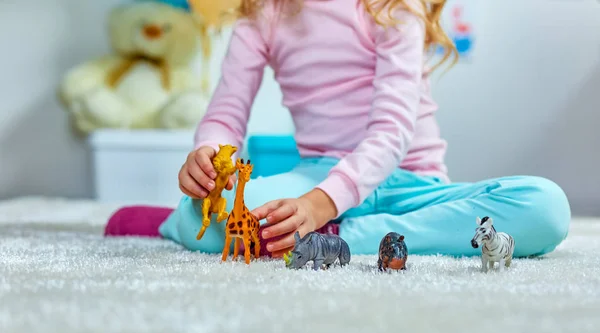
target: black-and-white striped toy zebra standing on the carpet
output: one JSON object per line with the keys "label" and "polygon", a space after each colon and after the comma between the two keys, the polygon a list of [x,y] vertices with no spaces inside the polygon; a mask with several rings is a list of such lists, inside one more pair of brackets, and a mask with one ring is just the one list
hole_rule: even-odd
{"label": "black-and-white striped toy zebra standing on the carpet", "polygon": [[515,240],[507,233],[496,232],[494,221],[486,216],[483,219],[477,217],[477,228],[475,236],[471,239],[471,246],[478,248],[481,246],[481,269],[487,272],[494,268],[494,264],[500,263],[500,270],[503,266],[510,267],[513,253],[515,251]]}

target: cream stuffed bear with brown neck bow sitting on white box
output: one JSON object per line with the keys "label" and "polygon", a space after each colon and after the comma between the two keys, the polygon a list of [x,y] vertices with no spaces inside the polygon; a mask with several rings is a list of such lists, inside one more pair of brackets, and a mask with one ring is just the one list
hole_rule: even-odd
{"label": "cream stuffed bear with brown neck bow sitting on white box", "polygon": [[75,67],[61,85],[76,127],[194,127],[208,103],[206,78],[192,69],[203,42],[194,17],[143,2],[114,9],[109,28],[115,54]]}

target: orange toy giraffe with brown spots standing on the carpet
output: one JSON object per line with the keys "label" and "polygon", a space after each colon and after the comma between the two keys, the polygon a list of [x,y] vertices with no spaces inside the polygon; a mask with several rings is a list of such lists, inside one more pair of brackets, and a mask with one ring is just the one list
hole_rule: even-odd
{"label": "orange toy giraffe with brown spots standing on the carpet", "polygon": [[227,261],[229,256],[229,248],[231,246],[231,240],[233,242],[233,260],[237,259],[239,244],[238,240],[244,243],[244,259],[246,264],[250,264],[250,245],[254,243],[254,258],[260,256],[260,241],[258,239],[258,228],[260,224],[256,216],[252,215],[244,203],[244,187],[246,183],[250,181],[250,174],[252,174],[252,164],[248,160],[247,164],[244,164],[243,159],[236,161],[236,168],[239,171],[238,174],[238,186],[235,192],[235,201],[233,203],[233,210],[229,214],[227,219],[227,227],[225,228],[225,247],[223,248],[223,261]]}

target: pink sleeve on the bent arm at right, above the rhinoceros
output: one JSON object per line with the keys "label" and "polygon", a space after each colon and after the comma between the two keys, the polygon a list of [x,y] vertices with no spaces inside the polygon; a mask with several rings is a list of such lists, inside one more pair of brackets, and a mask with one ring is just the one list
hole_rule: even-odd
{"label": "pink sleeve on the bent arm at right, above the rhinoceros", "polygon": [[405,157],[415,132],[424,64],[425,27],[402,11],[397,28],[374,29],[377,64],[367,137],[318,185],[339,215],[358,206]]}

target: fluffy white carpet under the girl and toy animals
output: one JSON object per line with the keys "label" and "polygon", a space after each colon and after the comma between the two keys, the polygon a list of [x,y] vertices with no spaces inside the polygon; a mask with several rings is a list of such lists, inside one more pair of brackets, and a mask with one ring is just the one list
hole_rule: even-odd
{"label": "fluffy white carpet under the girl and toy animals", "polygon": [[575,220],[555,252],[502,274],[416,256],[380,274],[374,256],[290,271],[104,239],[115,208],[0,202],[0,332],[600,332],[600,221]]}

